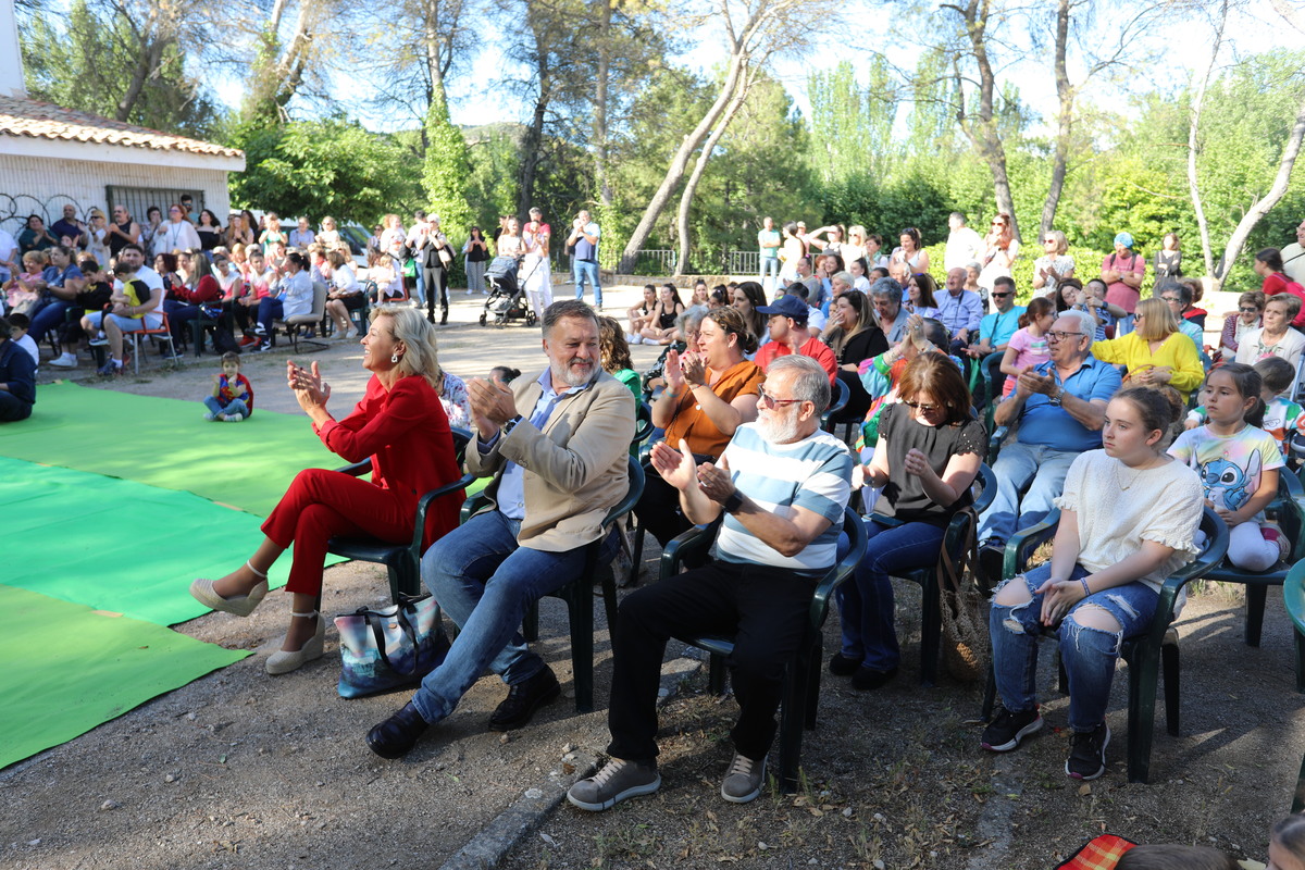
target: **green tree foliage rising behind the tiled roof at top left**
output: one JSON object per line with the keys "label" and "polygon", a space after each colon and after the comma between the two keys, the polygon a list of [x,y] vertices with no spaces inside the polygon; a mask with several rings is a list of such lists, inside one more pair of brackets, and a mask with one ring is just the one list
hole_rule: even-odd
{"label": "green tree foliage rising behind the tiled roof at top left", "polygon": [[[86,0],[74,0],[67,16],[23,16],[22,25],[18,40],[27,93],[34,99],[117,117],[144,48],[121,9],[91,8]],[[187,70],[181,48],[170,44],[123,120],[205,138],[222,113]]]}

